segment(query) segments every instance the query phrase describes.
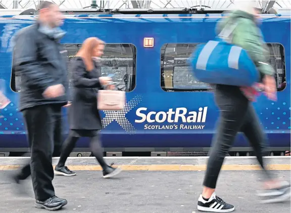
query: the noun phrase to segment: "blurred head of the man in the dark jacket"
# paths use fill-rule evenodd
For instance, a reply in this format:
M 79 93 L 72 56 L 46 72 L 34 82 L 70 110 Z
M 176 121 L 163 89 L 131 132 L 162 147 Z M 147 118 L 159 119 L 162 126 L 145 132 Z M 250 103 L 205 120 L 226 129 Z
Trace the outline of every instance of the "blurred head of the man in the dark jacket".
M 39 7 L 38 19 L 52 28 L 63 25 L 63 14 L 57 5 L 43 1 Z

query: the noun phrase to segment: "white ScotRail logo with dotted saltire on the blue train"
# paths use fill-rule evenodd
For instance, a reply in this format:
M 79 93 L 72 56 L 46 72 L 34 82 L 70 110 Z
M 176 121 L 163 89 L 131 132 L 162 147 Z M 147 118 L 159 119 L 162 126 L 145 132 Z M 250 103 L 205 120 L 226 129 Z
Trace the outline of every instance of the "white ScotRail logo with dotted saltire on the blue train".
M 128 134 L 136 133 L 135 127 L 126 118 L 126 114 L 136 107 L 142 101 L 140 95 L 135 96 L 126 103 L 120 111 L 104 111 L 105 117 L 102 120 L 103 129 L 113 121 L 116 121 Z M 203 130 L 205 125 L 196 125 L 196 123 L 205 123 L 208 107 L 200 107 L 198 111 L 189 111 L 187 108 L 179 107 L 169 109 L 168 111 L 149 111 L 146 107 L 140 107 L 136 110 L 137 116 L 135 123 L 144 124 L 144 130 Z M 153 124 L 149 124 L 153 123 Z M 154 124 L 155 123 L 155 124 Z M 161 123 L 161 124 L 156 124 Z M 163 125 L 162 123 L 169 123 Z M 194 124 L 195 123 L 195 124 Z M 193 125 L 194 124 L 194 125 Z

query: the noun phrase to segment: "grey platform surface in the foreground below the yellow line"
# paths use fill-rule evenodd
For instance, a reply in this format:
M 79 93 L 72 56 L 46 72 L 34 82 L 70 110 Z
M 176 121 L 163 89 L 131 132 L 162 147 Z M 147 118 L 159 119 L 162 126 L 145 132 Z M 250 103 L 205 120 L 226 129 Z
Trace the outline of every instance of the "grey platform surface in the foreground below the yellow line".
M 290 171 L 273 171 L 290 181 Z M 34 208 L 32 197 L 19 197 L 8 178 L 15 171 L 0 171 L 1 213 L 49 212 Z M 68 204 L 57 212 L 84 213 L 197 213 L 205 172 L 123 171 L 103 179 L 100 171 L 77 171 L 75 177 L 56 176 L 54 186 Z M 260 171 L 222 171 L 217 194 L 232 203 L 237 213 L 289 213 L 290 202 L 259 204 L 255 195 Z M 31 180 L 21 186 L 31 193 Z

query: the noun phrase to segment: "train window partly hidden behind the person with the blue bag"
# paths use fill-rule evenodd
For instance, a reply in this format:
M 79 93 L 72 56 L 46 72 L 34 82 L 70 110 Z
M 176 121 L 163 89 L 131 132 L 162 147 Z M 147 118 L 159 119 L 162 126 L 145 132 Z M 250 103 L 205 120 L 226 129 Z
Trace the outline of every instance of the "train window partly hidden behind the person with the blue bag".
M 187 59 L 198 44 L 165 44 L 161 49 L 161 87 L 166 92 L 207 91 L 211 86 L 195 79 Z M 280 44 L 267 44 L 269 63 L 274 67 L 277 90 L 286 87 L 285 54 Z

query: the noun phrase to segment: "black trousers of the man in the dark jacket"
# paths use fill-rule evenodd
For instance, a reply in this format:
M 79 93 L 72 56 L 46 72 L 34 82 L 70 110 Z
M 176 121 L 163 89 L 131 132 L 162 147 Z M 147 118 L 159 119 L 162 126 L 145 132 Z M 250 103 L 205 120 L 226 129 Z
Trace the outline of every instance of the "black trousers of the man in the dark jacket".
M 31 158 L 30 165 L 24 166 L 18 176 L 24 180 L 31 174 L 35 199 L 44 201 L 55 195 L 52 157 L 54 147 L 62 145 L 62 105 L 30 107 L 23 110 L 23 116 Z

